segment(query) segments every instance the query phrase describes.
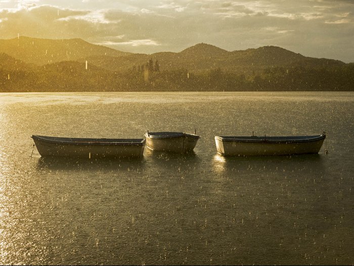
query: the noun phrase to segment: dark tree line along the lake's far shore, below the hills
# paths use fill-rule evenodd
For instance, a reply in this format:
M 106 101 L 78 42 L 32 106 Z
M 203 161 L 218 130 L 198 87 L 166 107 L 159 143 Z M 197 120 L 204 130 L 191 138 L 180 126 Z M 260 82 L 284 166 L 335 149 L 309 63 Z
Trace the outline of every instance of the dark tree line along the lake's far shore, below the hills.
M 129 71 L 63 67 L 40 70 L 0 68 L 0 92 L 59 91 L 353 91 L 354 64 L 335 68 L 269 67 L 259 72 L 222 68 L 191 72 L 164 70 L 159 62 L 132 66 Z

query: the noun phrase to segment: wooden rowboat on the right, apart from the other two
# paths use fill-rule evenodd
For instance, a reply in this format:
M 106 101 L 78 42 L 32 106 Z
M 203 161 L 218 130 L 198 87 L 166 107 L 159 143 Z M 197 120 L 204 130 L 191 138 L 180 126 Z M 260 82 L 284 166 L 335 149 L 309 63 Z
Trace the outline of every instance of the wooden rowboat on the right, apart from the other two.
M 216 150 L 224 156 L 315 154 L 326 132 L 314 136 L 215 136 Z

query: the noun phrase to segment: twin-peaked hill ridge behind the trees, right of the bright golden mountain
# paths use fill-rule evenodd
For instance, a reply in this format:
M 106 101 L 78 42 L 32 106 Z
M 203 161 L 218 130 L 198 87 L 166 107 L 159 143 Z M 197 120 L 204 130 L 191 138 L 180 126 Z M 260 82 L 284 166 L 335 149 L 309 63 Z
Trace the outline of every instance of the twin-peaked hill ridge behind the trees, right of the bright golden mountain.
M 106 69 L 124 71 L 131 69 L 134 65 L 145 64 L 150 58 L 154 61 L 158 60 L 165 70 L 188 69 L 194 72 L 203 72 L 213 68 L 234 72 L 259 72 L 273 66 L 319 68 L 345 65 L 339 60 L 305 57 L 276 46 L 229 52 L 207 44 L 197 44 L 179 53 L 160 52 L 151 55 L 130 54 L 119 57 L 91 56 L 78 59 L 78 61 L 88 60 Z

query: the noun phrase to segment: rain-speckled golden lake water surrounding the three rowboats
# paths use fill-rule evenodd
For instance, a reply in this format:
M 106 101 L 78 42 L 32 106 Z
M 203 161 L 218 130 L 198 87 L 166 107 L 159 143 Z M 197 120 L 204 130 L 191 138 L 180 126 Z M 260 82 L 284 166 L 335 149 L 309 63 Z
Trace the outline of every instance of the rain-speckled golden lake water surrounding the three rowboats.
M 353 92 L 0 93 L 0 264 L 353 264 L 353 110 Z M 195 129 L 193 154 L 134 160 L 41 158 L 30 138 Z M 217 155 L 214 136 L 252 131 L 328 136 Z

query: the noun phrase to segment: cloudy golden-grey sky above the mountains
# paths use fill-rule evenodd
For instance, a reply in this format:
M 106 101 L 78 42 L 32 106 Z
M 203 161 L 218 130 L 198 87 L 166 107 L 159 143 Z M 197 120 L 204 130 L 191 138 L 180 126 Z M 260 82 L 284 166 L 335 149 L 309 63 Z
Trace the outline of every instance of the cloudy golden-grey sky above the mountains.
M 274 45 L 354 62 L 354 0 L 0 0 L 0 39 L 81 38 L 134 53 Z

